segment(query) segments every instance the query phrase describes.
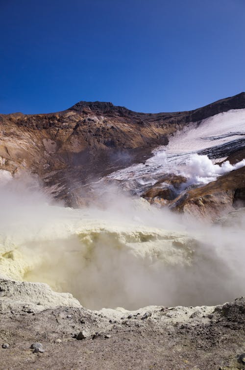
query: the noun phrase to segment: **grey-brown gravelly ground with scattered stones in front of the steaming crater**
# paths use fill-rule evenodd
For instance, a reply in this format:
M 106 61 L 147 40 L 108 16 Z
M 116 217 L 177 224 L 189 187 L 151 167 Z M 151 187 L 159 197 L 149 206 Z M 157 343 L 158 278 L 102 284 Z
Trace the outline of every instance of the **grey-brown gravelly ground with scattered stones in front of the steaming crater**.
M 0 318 L 1 369 L 245 369 L 243 297 L 90 311 L 46 284 L 2 278 Z

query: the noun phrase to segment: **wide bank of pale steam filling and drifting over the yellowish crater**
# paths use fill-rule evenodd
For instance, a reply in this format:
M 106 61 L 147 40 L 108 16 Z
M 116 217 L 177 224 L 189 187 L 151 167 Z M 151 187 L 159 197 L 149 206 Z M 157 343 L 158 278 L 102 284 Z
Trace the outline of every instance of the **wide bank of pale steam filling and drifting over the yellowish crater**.
M 0 187 L 0 275 L 46 282 L 86 308 L 215 305 L 245 294 L 245 220 L 222 226 L 118 188 L 99 204 L 53 203 L 36 181 Z M 227 225 L 228 224 L 228 225 Z

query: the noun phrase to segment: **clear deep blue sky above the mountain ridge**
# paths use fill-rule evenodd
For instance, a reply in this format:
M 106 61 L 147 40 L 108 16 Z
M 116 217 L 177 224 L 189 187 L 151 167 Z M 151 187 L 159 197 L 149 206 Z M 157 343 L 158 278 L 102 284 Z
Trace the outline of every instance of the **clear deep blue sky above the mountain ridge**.
M 0 113 L 189 110 L 245 91 L 245 0 L 0 0 Z

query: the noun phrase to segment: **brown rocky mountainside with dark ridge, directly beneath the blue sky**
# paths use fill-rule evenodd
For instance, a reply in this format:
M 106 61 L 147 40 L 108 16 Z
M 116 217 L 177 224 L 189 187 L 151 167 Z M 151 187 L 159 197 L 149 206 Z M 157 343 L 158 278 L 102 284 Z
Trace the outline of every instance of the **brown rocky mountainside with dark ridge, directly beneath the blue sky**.
M 82 185 L 146 160 L 186 123 L 245 107 L 245 93 L 174 113 L 137 113 L 81 101 L 57 113 L 0 115 L 0 169 L 37 174 L 53 197 L 75 206 Z

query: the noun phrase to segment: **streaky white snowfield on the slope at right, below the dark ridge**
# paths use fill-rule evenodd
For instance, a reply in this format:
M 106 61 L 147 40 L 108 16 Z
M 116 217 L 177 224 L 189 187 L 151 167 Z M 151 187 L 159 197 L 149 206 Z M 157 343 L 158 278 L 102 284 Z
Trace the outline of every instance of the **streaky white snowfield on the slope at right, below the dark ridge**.
M 199 123 L 189 123 L 183 130 L 170 137 L 168 146 L 153 151 L 153 156 L 145 163 L 134 164 L 123 170 L 116 171 L 107 176 L 109 179 L 121 181 L 134 180 L 139 185 L 149 182 L 152 185 L 156 178 L 166 173 L 183 174 L 194 181 L 193 183 L 208 183 L 217 176 L 234 170 L 226 163 L 221 171 L 212 167 L 212 161 L 206 155 L 195 157 L 194 154 L 202 149 L 213 148 L 225 143 L 232 143 L 245 137 L 245 109 L 229 110 L 216 116 L 202 120 Z M 212 150 L 212 149 L 211 149 Z M 223 158 L 225 159 L 225 158 Z M 200 171 L 209 168 L 210 171 L 200 176 L 193 175 L 192 163 L 199 162 Z M 219 160 L 215 160 L 218 162 Z M 237 164 L 236 168 L 243 167 L 244 162 Z M 195 167 L 195 166 L 194 166 Z M 189 175 L 188 175 L 189 173 Z M 190 174 L 191 173 L 191 174 Z

